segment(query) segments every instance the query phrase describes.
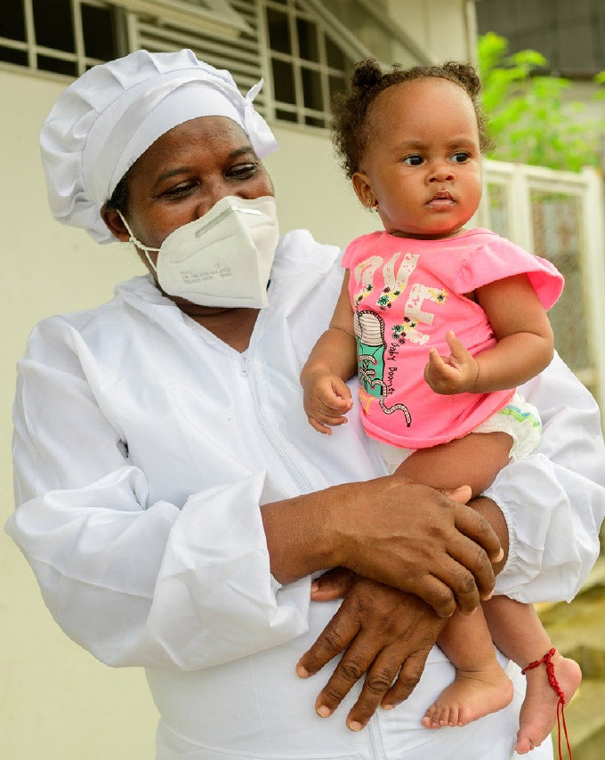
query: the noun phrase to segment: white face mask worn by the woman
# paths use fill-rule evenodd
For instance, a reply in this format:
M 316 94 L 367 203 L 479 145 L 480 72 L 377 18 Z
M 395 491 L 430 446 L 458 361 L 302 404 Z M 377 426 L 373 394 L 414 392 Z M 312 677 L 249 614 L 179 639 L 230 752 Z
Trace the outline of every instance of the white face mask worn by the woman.
M 168 295 L 200 306 L 269 305 L 267 284 L 279 238 L 272 196 L 221 198 L 204 216 L 171 232 L 159 248 L 144 246 L 120 217 Z M 149 251 L 158 252 L 157 266 Z

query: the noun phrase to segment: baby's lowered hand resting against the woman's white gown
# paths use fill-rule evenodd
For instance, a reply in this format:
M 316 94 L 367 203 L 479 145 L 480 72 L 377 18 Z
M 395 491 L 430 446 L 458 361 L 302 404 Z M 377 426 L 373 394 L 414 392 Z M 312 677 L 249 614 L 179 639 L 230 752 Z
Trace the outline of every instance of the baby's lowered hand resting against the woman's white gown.
M 349 386 L 340 377 L 313 373 L 303 379 L 303 406 L 311 427 L 331 435 L 327 425 L 344 424 L 344 416 L 353 406 Z

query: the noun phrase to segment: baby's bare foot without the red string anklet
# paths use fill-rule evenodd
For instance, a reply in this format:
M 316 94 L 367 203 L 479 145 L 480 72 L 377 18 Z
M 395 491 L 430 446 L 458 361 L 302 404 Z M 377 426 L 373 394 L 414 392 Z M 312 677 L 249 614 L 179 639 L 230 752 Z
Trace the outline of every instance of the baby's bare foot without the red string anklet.
M 456 678 L 441 691 L 424 714 L 424 728 L 466 725 L 496 713 L 512 700 L 512 683 L 496 660 L 481 670 L 456 670 Z

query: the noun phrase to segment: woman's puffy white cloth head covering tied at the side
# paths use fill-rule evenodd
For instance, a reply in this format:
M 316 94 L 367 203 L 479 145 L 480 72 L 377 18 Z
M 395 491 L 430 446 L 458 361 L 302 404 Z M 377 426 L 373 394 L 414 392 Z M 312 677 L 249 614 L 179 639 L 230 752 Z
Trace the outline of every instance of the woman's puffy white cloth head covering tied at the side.
M 100 243 L 115 240 L 101 206 L 149 145 L 191 118 L 230 117 L 259 158 L 270 155 L 278 144 L 253 106 L 261 86 L 244 97 L 229 71 L 190 50 L 138 50 L 93 67 L 60 94 L 40 133 L 52 215 Z

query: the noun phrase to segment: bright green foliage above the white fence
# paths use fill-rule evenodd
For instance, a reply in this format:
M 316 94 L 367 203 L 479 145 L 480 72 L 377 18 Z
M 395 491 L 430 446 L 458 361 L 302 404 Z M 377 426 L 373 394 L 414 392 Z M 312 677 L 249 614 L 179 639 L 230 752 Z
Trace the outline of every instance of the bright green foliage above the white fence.
M 605 117 L 585 116 L 585 104 L 566 101 L 569 79 L 540 73 L 548 61 L 535 50 L 508 54 L 504 37 L 488 32 L 478 45 L 482 102 L 496 148 L 488 158 L 578 171 L 599 166 Z M 594 81 L 605 85 L 605 71 Z M 605 86 L 594 99 L 605 98 Z

